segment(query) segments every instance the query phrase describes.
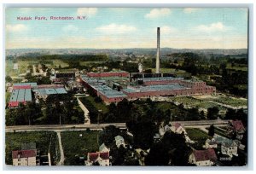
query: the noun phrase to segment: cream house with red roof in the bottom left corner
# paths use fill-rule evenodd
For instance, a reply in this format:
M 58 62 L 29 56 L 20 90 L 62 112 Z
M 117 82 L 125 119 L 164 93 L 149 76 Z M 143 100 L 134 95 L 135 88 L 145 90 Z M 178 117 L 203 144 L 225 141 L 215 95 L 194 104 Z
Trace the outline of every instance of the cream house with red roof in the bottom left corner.
M 15 150 L 12 152 L 13 165 L 15 166 L 35 166 L 37 162 L 37 149 Z

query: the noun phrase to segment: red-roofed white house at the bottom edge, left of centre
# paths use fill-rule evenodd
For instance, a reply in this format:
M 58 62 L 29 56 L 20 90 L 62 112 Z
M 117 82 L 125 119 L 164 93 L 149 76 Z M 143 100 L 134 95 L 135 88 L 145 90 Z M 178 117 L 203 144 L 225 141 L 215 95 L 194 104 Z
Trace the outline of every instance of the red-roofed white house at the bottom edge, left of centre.
M 88 153 L 85 165 L 109 166 L 109 152 Z

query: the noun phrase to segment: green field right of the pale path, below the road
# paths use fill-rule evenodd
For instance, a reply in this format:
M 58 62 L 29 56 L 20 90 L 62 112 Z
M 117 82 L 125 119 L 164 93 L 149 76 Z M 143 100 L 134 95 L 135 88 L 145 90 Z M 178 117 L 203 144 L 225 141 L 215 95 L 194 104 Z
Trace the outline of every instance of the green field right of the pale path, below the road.
M 99 131 L 62 131 L 61 142 L 65 155 L 65 165 L 84 165 L 87 153 L 96 152 L 99 148 L 97 144 L 98 133 Z M 84 157 L 84 159 L 77 161 L 76 157 Z

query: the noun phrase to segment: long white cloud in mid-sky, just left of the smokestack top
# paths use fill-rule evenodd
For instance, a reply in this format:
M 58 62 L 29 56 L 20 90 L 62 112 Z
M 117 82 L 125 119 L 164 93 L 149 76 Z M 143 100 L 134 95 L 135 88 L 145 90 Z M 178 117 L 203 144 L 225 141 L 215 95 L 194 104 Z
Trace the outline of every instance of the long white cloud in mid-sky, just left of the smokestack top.
M 96 28 L 99 32 L 105 32 L 108 34 L 123 34 L 126 32 L 134 32 L 137 30 L 135 26 L 127 26 L 127 25 L 118 25 L 118 24 L 109 24 L 107 26 L 100 26 Z

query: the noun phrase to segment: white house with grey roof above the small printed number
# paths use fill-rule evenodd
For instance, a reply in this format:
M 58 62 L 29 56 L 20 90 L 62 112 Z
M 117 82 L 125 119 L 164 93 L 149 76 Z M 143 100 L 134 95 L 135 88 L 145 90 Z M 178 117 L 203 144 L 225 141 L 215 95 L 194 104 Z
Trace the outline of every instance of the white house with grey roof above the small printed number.
M 237 154 L 237 144 L 235 141 L 226 139 L 224 142 L 221 143 L 221 153 L 222 154 L 227 154 L 230 157 L 233 155 L 238 156 Z

